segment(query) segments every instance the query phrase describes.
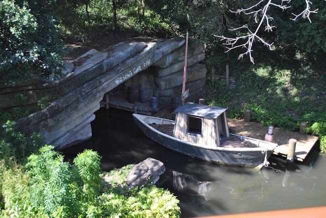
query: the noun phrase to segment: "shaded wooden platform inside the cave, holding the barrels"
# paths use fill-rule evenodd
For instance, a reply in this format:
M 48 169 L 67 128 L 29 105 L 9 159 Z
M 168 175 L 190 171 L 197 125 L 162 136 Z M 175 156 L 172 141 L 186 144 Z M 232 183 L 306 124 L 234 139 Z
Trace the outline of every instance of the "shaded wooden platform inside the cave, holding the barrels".
M 105 106 L 105 101 L 101 101 L 101 106 Z M 109 107 L 114 107 L 118 109 L 134 111 L 135 106 L 137 107 L 137 113 L 145 114 L 145 115 L 152 115 L 153 113 L 158 111 L 157 109 L 153 109 L 150 105 L 150 102 L 147 101 L 146 103 L 129 103 L 125 97 L 120 96 L 109 96 Z

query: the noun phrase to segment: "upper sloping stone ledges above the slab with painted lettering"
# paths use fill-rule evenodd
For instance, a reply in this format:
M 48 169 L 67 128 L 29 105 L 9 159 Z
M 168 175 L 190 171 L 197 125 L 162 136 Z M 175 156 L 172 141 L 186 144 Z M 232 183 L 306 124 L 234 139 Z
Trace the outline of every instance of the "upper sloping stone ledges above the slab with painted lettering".
M 106 49 L 106 52 L 91 49 L 73 60 L 76 64 L 75 70 L 61 79 L 53 82 L 40 82 L 37 85 L 0 89 L 0 108 L 19 106 L 21 103 L 17 99 L 17 94 L 24 94 L 27 97 L 27 104 L 35 104 L 45 96 L 48 100 L 57 99 L 92 78 L 106 72 L 109 68 L 118 65 L 123 60 L 142 50 L 144 46 L 146 46 L 144 42 L 121 42 L 109 47 Z M 103 57 L 106 56 L 107 58 L 103 60 Z M 71 70 L 71 64 L 67 64 L 68 69 L 65 69 L 64 72 Z

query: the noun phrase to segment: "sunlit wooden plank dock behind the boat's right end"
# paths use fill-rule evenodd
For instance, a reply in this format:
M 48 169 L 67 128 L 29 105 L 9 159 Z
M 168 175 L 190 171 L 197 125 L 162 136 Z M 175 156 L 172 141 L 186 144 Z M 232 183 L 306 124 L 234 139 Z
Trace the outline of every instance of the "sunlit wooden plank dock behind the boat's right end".
M 228 118 L 230 132 L 248 137 L 254 137 L 264 140 L 267 126 L 255 122 L 245 122 L 243 119 Z M 295 147 L 295 159 L 304 161 L 313 145 L 318 140 L 317 136 L 300 134 L 299 132 L 282 130 L 274 128 L 274 139 L 278 147 L 274 149 L 274 155 L 286 157 L 288 150 L 288 141 L 290 138 L 297 140 Z

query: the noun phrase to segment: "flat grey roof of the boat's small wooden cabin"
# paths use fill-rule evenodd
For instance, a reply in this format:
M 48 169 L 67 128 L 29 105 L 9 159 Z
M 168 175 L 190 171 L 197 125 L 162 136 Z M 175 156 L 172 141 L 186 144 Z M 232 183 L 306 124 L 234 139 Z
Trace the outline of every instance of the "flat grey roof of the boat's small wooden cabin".
M 186 103 L 182 106 L 179 106 L 175 112 L 216 119 L 227 109 L 228 108 L 225 107 L 209 106 L 198 103 Z

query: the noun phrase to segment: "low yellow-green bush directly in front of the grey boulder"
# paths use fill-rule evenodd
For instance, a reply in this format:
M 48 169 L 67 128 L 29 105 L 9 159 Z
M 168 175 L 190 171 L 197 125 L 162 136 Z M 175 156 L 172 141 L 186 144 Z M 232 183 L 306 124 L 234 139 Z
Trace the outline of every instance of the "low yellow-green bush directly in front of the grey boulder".
M 101 196 L 104 216 L 120 217 L 179 217 L 179 200 L 168 190 L 154 185 L 128 188 L 126 175 L 132 165 L 113 169 L 107 173 L 110 185 L 108 193 Z

